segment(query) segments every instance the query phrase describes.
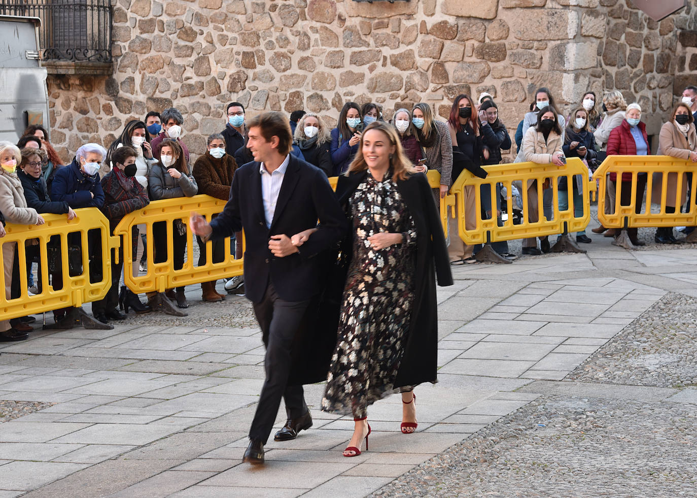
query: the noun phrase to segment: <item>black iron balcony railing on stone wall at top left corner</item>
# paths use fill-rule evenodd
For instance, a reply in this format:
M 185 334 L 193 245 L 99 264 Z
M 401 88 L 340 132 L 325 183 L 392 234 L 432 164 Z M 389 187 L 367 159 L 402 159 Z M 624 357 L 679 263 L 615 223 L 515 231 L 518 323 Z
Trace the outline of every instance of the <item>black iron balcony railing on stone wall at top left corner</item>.
M 44 61 L 112 61 L 110 0 L 0 0 L 0 14 L 41 19 Z

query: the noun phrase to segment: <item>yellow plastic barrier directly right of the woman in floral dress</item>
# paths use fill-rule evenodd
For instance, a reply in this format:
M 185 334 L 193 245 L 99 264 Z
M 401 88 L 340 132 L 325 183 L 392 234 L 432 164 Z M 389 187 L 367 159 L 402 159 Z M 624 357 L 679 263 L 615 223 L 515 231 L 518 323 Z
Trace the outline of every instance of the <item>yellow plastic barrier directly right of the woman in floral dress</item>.
M 578 232 L 588 225 L 590 221 L 590 191 L 595 189 L 595 181 L 588 181 L 588 167 L 586 167 L 579 158 L 567 159 L 567 164 L 556 166 L 553 164 L 539 165 L 537 163 L 512 163 L 503 165 L 484 166 L 488 176 L 486 179 L 481 179 L 474 176 L 468 170 L 464 170 L 457 178 L 450 194 L 457 197 L 457 218 L 460 232 L 460 238 L 468 244 L 480 244 L 498 241 L 510 241 L 514 239 L 527 239 L 529 237 L 539 237 L 553 234 L 562 234 L 565 229 L 567 232 Z M 565 211 L 559 210 L 559 188 L 558 180 L 562 176 L 567 176 L 568 185 L 576 181 L 575 175 L 581 175 L 583 181 L 583 216 L 576 218 L 574 216 L 574 199 L 569 195 L 569 208 Z M 543 210 L 542 184 L 546 179 L 549 179 L 549 188 L 553 192 L 553 219 L 546 220 Z M 539 220 L 537 222 L 528 221 L 528 189 L 529 181 L 537 181 L 537 211 Z M 523 220 L 519 225 L 514 224 L 513 208 L 514 199 L 512 198 L 512 183 L 521 181 L 523 186 L 520 192 L 523 202 Z M 502 226 L 498 226 L 496 216 L 491 218 L 482 218 L 482 198 L 480 186 L 489 185 L 491 199 L 490 206 L 496 206 L 496 183 L 501 183 L 506 188 L 507 201 L 507 219 L 503 221 Z M 465 223 L 465 188 L 473 186 L 470 189 L 471 195 L 475 195 L 475 228 L 466 229 Z M 454 216 L 453 216 L 454 218 Z M 489 237 L 487 237 L 489 236 Z

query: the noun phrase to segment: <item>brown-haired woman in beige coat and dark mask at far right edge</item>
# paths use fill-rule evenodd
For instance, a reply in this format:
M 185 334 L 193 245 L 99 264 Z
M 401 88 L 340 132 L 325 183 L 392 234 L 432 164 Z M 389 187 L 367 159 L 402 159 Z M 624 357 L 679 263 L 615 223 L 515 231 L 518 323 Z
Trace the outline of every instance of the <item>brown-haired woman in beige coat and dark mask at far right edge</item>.
M 679 103 L 673 109 L 673 119 L 661 126 L 658 139 L 659 155 L 697 163 L 697 133 L 695 133 L 694 117 L 689 106 Z M 654 173 L 651 187 L 651 202 L 661 204 L 663 174 Z M 687 193 L 687 175 L 682 175 L 680 200 L 677 197 L 677 173 L 668 173 L 666 178 L 666 213 L 675 213 L 675 203 L 679 206 L 685 203 Z M 679 243 L 673 236 L 672 227 L 656 229 L 654 241 L 660 244 Z

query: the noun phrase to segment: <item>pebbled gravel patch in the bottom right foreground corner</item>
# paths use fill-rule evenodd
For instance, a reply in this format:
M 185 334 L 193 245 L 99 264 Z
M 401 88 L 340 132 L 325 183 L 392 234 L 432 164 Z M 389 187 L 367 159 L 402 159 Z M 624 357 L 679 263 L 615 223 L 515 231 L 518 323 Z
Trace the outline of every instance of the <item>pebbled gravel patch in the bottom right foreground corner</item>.
M 374 497 L 694 497 L 697 407 L 551 397 Z

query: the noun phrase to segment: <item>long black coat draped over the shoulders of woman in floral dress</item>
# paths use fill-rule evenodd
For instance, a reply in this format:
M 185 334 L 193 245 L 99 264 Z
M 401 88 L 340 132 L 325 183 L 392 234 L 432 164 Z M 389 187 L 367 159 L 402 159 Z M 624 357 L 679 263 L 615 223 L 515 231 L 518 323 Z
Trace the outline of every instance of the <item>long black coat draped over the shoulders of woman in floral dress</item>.
M 339 203 L 346 202 L 355 189 L 365 180 L 367 171 L 339 176 L 337 196 Z M 450 259 L 445 246 L 443 225 L 438 217 L 431 187 L 422 173 L 413 174 L 406 180 L 397 181 L 399 194 L 406 203 L 414 220 L 417 232 L 416 264 L 414 279 L 414 302 L 411 309 L 408 338 L 404 347 L 395 387 L 415 386 L 422 382 L 436 382 L 438 368 L 438 303 L 436 301 L 436 276 L 438 285 L 452 285 Z M 346 270 L 353 250 L 353 232 L 342 242 L 342 254 L 347 255 L 342 263 L 343 272 L 335 273 L 333 285 L 336 292 L 346 282 Z M 342 275 L 343 273 L 343 275 Z M 336 280 L 336 279 L 342 280 Z M 335 296 L 334 301 L 341 303 Z M 338 326 L 338 313 L 337 313 Z

